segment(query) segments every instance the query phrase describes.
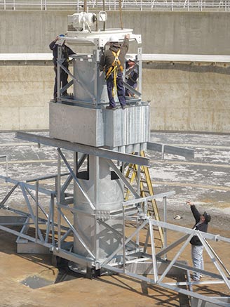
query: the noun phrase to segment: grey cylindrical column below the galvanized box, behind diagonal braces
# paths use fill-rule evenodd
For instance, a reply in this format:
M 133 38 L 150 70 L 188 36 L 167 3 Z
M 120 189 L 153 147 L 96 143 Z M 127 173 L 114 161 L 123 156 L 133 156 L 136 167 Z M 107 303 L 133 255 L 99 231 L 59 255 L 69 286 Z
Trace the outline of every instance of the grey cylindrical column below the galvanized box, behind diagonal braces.
M 111 171 L 107 160 L 100 157 L 88 157 L 88 171 L 79 172 L 77 175 L 82 188 L 87 193 L 96 210 L 113 211 L 122 208 L 123 183 Z M 74 227 L 93 253 L 97 261 L 106 259 L 121 244 L 122 220 L 109 219 L 105 221 L 111 228 L 102 225 L 90 207 L 90 203 L 74 183 L 74 207 L 82 211 L 74 214 Z M 75 237 L 74 252 L 81 256 L 89 256 L 85 247 Z

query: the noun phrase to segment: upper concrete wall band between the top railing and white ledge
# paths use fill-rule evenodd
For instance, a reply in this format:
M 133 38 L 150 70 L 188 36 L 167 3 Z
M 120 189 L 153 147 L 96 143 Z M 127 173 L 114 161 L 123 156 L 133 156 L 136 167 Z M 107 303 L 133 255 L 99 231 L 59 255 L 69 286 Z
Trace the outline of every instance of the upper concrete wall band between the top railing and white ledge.
M 0 11 L 0 53 L 47 53 L 67 31 L 74 11 Z M 108 11 L 107 27 L 120 27 L 119 12 Z M 123 27 L 142 34 L 143 53 L 228 55 L 229 12 L 124 11 Z M 81 48 L 79 48 L 81 50 Z

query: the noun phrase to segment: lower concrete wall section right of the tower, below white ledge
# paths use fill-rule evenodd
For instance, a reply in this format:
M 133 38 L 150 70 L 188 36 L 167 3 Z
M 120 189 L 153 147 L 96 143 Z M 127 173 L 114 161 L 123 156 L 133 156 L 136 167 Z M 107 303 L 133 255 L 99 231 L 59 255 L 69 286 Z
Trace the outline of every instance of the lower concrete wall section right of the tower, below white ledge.
M 230 67 L 144 65 L 152 130 L 230 133 Z

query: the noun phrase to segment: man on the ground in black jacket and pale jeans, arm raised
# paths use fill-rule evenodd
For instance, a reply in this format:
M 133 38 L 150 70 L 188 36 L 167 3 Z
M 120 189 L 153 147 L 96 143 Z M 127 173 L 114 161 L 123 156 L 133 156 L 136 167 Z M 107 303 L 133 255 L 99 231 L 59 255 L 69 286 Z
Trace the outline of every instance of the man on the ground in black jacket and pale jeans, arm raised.
M 191 204 L 191 202 L 187 202 L 191 208 L 191 212 L 194 215 L 194 218 L 196 220 L 196 224 L 194 225 L 195 230 L 203 231 L 203 233 L 207 233 L 208 231 L 208 223 L 211 221 L 211 216 L 205 211 L 203 214 L 200 214 L 200 212 L 196 209 L 196 206 L 194 204 Z M 194 264 L 194 268 L 198 268 L 200 270 L 203 270 L 203 245 L 201 243 L 201 240 L 194 235 L 194 237 L 190 240 L 191 243 L 191 259 Z M 192 279 L 195 281 L 200 280 L 201 273 L 194 272 Z

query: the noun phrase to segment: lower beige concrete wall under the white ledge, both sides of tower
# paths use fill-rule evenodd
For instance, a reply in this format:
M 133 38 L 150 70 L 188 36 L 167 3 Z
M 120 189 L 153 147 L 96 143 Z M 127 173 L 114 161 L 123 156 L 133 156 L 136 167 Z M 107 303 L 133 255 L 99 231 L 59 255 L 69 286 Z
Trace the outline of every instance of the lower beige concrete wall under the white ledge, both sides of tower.
M 144 64 L 150 129 L 230 132 L 230 67 Z M 48 129 L 53 65 L 0 65 L 0 131 Z

